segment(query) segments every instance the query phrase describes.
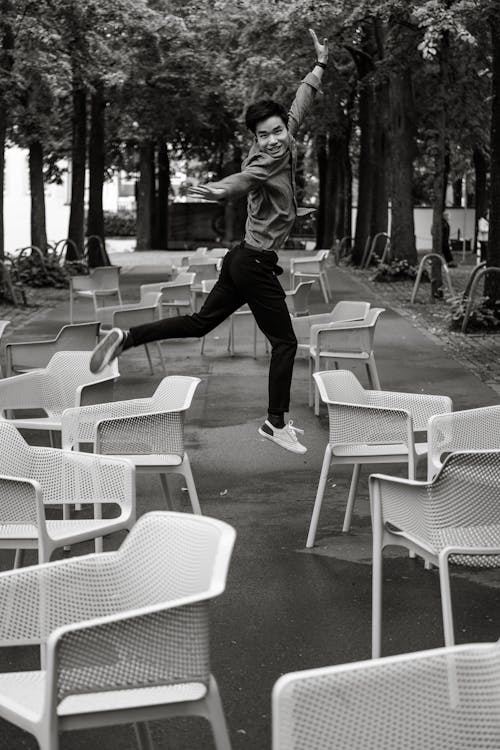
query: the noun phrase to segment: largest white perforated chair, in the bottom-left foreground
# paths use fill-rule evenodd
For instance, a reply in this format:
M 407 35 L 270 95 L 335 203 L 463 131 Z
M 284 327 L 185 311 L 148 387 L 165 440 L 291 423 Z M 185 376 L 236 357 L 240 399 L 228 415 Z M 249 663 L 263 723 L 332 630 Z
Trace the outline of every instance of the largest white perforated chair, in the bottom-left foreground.
M 45 647 L 42 669 L 0 674 L 0 716 L 58 750 L 62 732 L 203 716 L 231 750 L 210 674 L 210 600 L 235 532 L 212 518 L 147 513 L 116 552 L 0 574 L 0 644 Z M 116 747 L 108 730 L 109 747 Z

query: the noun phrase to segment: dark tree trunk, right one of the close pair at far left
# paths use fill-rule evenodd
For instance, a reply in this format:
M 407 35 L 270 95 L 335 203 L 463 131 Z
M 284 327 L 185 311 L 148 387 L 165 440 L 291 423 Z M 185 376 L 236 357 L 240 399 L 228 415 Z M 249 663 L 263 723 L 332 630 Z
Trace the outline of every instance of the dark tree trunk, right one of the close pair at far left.
M 88 263 L 91 268 L 111 265 L 106 254 L 102 191 L 105 168 L 104 87 L 98 82 L 90 99 L 89 212 L 87 217 Z M 102 246 L 98 237 L 101 238 Z M 104 252 L 103 252 L 104 248 Z

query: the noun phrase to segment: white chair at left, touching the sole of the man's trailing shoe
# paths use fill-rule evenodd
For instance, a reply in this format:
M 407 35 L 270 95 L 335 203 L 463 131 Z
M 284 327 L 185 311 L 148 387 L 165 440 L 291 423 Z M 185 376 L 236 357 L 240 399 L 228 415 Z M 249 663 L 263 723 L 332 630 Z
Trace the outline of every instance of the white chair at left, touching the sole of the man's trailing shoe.
M 46 367 L 54 354 L 61 351 L 91 351 L 99 341 L 99 323 L 65 325 L 54 339 L 13 341 L 5 345 L 6 375 L 16 375 Z

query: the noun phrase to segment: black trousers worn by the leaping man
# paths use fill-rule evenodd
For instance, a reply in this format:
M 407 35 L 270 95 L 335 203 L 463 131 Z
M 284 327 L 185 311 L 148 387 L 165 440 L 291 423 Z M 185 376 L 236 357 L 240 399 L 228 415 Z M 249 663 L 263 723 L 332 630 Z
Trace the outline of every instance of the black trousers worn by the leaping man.
M 297 339 L 285 292 L 277 278 L 281 273 L 277 260 L 274 251 L 252 250 L 242 242 L 225 256 L 219 279 L 199 312 L 131 328 L 131 345 L 205 336 L 248 303 L 257 325 L 272 346 L 269 412 L 288 411 Z

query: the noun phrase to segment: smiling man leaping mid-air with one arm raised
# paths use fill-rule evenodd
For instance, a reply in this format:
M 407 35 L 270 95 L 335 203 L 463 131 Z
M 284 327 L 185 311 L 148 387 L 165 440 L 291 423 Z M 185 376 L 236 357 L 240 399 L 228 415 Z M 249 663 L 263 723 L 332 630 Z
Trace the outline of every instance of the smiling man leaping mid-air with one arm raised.
M 299 85 L 290 110 L 287 112 L 272 99 L 250 104 L 245 124 L 253 133 L 254 142 L 241 172 L 189 191 L 193 196 L 212 200 L 248 196 L 245 237 L 225 256 L 219 279 L 201 310 L 135 326 L 130 331 L 113 328 L 95 348 L 90 363 L 91 370 L 99 372 L 132 346 L 160 339 L 205 336 L 248 303 L 272 346 L 268 416 L 259 433 L 293 453 L 305 453 L 307 448 L 297 438 L 301 430 L 292 421 L 286 424 L 284 418 L 289 410 L 297 339 L 285 292 L 277 278 L 282 269 L 277 264 L 276 250 L 284 247 L 296 217 L 304 213 L 297 207 L 295 192 L 295 135 L 320 88 L 328 60 L 327 40 L 320 43 L 312 29 L 309 33 L 316 63 Z

